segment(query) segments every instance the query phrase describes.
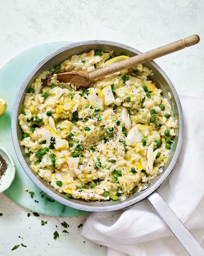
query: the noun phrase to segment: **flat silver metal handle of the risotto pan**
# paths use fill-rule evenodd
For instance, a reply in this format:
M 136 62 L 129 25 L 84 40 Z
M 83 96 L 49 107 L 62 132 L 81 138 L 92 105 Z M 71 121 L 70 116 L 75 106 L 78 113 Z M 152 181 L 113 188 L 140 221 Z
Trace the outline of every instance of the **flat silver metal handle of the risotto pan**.
M 163 221 L 171 229 L 173 234 L 177 237 L 182 246 L 186 249 L 190 256 L 203 256 L 204 250 L 192 236 L 192 234 L 186 229 L 184 224 L 171 210 L 167 203 L 160 197 L 155 191 L 147 197 L 148 201 L 162 217 Z

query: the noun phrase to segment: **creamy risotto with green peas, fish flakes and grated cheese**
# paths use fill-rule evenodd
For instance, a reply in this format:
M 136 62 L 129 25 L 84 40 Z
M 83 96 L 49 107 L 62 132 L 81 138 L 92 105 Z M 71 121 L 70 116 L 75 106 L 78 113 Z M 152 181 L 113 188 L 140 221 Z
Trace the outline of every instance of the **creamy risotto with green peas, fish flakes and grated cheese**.
M 25 95 L 19 124 L 30 167 L 66 198 L 116 201 L 154 179 L 177 120 L 142 64 L 76 90 L 57 73 L 88 73 L 129 58 L 94 50 L 44 71 Z M 44 79 L 53 75 L 48 86 Z

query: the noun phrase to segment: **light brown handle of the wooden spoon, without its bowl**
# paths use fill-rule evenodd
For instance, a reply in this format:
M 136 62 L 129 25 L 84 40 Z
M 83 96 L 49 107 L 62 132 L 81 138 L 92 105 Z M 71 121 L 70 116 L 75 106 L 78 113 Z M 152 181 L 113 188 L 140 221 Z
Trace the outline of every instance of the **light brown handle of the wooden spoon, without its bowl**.
M 184 39 L 180 39 L 173 43 L 169 43 L 167 45 L 163 45 L 151 51 L 147 51 L 145 53 L 141 53 L 129 59 L 125 59 L 124 61 L 117 62 L 108 67 L 104 67 L 102 69 L 98 69 L 94 72 L 88 74 L 89 80 L 94 80 L 100 77 L 104 77 L 106 75 L 113 74 L 115 72 L 129 69 L 135 65 L 145 63 L 147 61 L 151 61 L 152 59 L 157 59 L 169 53 L 173 53 L 175 51 L 179 51 L 184 49 L 185 47 L 189 47 L 197 44 L 200 41 L 198 35 L 190 35 L 189 37 L 185 37 Z

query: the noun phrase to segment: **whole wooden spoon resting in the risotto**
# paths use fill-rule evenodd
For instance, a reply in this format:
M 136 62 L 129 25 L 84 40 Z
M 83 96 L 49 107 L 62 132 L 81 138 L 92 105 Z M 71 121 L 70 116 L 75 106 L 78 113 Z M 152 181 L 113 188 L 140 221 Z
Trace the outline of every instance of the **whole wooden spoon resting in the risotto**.
M 66 73 L 59 73 L 57 74 L 57 80 L 64 83 L 71 82 L 74 86 L 76 86 L 77 90 L 87 88 L 90 85 L 91 80 L 104 77 L 106 75 L 110 75 L 124 69 L 129 69 L 130 67 L 145 63 L 147 61 L 151 61 L 152 59 L 157 59 L 169 53 L 184 49 L 185 47 L 195 45 L 199 41 L 200 38 L 198 35 L 190 35 L 189 37 L 185 37 L 184 39 L 180 39 L 173 43 L 169 43 L 167 45 L 158 47 L 145 53 L 138 54 L 134 57 L 117 62 L 108 67 L 98 69 L 91 73 L 87 73 L 85 71 L 71 71 Z M 51 77 L 53 77 L 53 75 L 44 80 L 43 86 L 47 85 L 47 82 L 50 80 Z

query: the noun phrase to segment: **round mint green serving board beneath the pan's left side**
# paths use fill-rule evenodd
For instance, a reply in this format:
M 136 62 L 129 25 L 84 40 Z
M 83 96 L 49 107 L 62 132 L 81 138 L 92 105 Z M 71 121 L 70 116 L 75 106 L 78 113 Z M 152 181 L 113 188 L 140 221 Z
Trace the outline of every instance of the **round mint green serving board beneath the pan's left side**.
M 48 195 L 41 193 L 41 190 L 28 178 L 14 151 L 11 138 L 11 114 L 18 90 L 31 69 L 45 56 L 70 43 L 73 42 L 52 42 L 32 47 L 18 54 L 0 69 L 0 98 L 4 98 L 7 103 L 6 112 L 0 116 L 0 146 L 10 153 L 16 166 L 15 179 L 4 193 L 28 210 L 56 217 L 72 217 L 89 212 L 73 209 L 57 201 L 48 201 Z M 33 198 L 29 191 L 34 192 Z

